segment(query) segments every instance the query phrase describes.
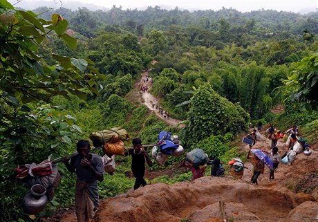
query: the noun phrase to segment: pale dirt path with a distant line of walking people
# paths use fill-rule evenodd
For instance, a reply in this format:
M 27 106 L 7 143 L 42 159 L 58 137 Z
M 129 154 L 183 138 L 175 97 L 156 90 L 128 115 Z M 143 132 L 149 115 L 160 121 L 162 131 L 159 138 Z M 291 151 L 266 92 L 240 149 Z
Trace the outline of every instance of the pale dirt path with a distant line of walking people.
M 140 93 L 142 93 L 142 91 L 140 91 L 140 86 L 147 86 L 148 88 L 146 92 L 142 93 L 142 100 L 140 102 L 144 104 L 146 107 L 148 107 L 150 111 L 153 111 L 153 113 L 155 113 L 156 116 L 158 116 L 158 118 L 162 119 L 162 121 L 166 122 L 170 126 L 178 127 L 179 129 L 185 127 L 185 125 L 182 123 L 182 120 L 177 120 L 171 117 L 164 118 L 161 115 L 159 109 L 156 109 L 156 107 L 153 108 L 153 104 L 159 104 L 160 100 L 151 95 L 151 93 L 149 93 L 149 90 L 152 87 L 153 80 L 151 77 L 149 77 L 148 82 L 144 82 L 147 76 L 149 76 L 149 71 L 142 72 L 140 83 L 135 84 L 135 91 L 139 91 Z

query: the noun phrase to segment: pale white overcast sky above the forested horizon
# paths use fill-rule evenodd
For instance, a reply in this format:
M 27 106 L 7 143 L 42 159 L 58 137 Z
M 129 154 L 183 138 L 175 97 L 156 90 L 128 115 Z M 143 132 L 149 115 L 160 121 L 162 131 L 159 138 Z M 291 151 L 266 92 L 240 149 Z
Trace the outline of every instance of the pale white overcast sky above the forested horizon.
M 8 0 L 11 3 L 17 0 Z M 22 0 L 36 1 L 36 0 Z M 160 6 L 160 8 L 173 9 L 178 6 L 180 10 L 220 10 L 224 8 L 233 8 L 240 12 L 250 12 L 251 10 L 272 9 L 288 12 L 314 12 L 318 8 L 318 0 L 42 0 L 57 2 L 62 1 L 68 4 L 71 1 L 81 1 L 82 3 L 91 3 L 104 8 L 122 6 L 122 9 L 145 9 L 147 6 Z

